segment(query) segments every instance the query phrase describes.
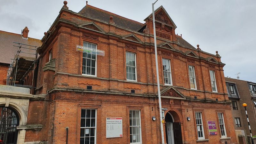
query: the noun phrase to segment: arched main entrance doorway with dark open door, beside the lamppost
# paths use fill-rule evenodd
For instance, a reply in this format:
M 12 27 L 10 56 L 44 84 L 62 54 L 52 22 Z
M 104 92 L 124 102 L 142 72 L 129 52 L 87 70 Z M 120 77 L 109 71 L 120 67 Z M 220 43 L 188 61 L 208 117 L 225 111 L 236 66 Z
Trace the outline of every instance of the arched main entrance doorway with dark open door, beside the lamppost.
M 167 144 L 182 144 L 180 122 L 176 122 L 170 112 L 166 113 L 165 122 L 165 136 Z

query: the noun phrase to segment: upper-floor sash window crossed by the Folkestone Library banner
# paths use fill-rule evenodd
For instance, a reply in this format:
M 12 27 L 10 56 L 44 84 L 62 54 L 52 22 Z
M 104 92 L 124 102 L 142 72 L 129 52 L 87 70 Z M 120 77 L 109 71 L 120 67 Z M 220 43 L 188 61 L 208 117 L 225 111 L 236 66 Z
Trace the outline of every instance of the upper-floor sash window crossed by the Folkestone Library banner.
M 84 42 L 84 46 L 92 49 L 97 49 L 96 44 Z M 97 73 L 97 55 L 90 51 L 83 52 L 82 74 L 96 76 Z

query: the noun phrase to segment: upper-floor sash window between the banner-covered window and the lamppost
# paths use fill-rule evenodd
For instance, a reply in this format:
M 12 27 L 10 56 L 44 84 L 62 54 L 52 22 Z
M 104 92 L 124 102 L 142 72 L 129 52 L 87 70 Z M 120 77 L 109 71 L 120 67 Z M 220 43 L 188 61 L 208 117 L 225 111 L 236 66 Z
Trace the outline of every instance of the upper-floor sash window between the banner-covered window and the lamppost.
M 127 80 L 136 81 L 136 54 L 126 52 L 126 78 Z

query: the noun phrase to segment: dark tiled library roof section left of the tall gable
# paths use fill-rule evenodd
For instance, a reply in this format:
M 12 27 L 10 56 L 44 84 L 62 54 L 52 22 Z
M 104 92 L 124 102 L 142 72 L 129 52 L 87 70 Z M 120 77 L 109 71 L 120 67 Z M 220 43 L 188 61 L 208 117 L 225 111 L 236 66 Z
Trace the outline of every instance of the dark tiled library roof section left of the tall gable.
M 113 21 L 115 22 L 115 24 L 117 26 L 131 29 L 134 31 L 138 31 L 138 30 L 140 30 L 140 28 L 143 27 L 143 23 L 124 18 L 117 14 L 114 14 L 114 13 L 96 8 L 94 6 L 91 6 L 89 4 L 85 5 L 84 8 L 78 13 L 82 14 L 86 17 L 90 17 L 90 18 L 97 19 L 97 20 L 102 20 L 105 22 L 109 22 L 109 17 L 113 16 Z

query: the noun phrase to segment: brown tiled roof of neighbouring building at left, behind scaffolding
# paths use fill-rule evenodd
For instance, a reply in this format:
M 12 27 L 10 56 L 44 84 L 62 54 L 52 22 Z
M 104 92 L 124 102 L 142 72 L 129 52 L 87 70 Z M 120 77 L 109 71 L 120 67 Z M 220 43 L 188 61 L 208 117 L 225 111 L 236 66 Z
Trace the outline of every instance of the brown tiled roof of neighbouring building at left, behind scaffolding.
M 15 57 L 18 47 L 13 45 L 18 45 L 18 44 L 14 44 L 13 42 L 20 42 L 20 34 L 15 34 L 15 33 L 10 33 L 10 32 L 0 30 L 0 63 L 10 64 L 11 59 Z M 42 45 L 41 40 L 31 38 L 31 37 L 28 37 L 28 39 L 21 38 L 21 43 L 34 45 L 37 47 Z M 29 47 L 29 46 L 24 45 L 23 47 Z M 29 48 L 33 48 L 33 47 L 29 47 Z M 21 51 L 30 52 L 30 53 L 35 52 L 35 50 L 29 50 L 24 48 L 21 48 Z M 20 53 L 20 57 L 35 58 L 35 55 Z

